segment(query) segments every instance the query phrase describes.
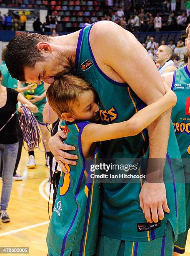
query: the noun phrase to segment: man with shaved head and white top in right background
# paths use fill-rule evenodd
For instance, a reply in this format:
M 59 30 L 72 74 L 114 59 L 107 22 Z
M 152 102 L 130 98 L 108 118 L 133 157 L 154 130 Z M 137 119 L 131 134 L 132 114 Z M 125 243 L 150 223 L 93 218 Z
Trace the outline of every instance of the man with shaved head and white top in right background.
M 177 69 L 174 65 L 173 60 L 171 60 L 173 56 L 173 50 L 169 46 L 160 45 L 156 56 L 156 62 L 157 64 L 160 64 L 160 67 L 158 68 L 160 74 L 166 72 L 173 72 L 175 69 Z

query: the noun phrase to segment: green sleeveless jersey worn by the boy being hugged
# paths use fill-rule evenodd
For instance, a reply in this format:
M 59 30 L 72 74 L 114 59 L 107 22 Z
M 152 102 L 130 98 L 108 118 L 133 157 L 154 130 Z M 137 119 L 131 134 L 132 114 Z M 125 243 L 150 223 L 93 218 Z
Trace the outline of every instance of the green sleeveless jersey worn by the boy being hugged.
M 81 134 L 88 122 L 63 123 L 60 128 L 67 134 L 65 143 L 75 146 L 77 165 L 66 165 L 62 173 L 57 197 L 47 233 L 49 255 L 91 256 L 96 252 L 98 217 L 100 209 L 99 184 L 89 179 L 82 154 Z M 73 152 L 70 152 L 71 154 Z M 97 156 L 95 150 L 94 160 Z

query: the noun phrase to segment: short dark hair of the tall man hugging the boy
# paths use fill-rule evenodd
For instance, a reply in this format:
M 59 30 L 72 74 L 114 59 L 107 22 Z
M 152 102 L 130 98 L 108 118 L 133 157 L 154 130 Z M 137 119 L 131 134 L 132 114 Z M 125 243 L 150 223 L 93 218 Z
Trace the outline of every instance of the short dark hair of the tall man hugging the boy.
M 19 81 L 25 81 L 24 68 L 34 67 L 37 61 L 45 57 L 37 51 L 37 44 L 42 41 L 51 42 L 50 36 L 36 33 L 21 33 L 5 46 L 4 58 L 9 73 Z

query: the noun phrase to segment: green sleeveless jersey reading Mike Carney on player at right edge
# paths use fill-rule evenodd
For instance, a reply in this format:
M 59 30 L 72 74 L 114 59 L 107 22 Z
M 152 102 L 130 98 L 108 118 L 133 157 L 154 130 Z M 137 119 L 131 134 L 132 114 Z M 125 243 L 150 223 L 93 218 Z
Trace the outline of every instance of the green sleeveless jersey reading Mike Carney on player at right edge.
M 190 72 L 188 66 L 174 71 L 171 89 L 178 98 L 171 116 L 175 136 L 178 140 L 181 157 L 190 158 Z M 190 172 L 190 167 L 188 172 Z

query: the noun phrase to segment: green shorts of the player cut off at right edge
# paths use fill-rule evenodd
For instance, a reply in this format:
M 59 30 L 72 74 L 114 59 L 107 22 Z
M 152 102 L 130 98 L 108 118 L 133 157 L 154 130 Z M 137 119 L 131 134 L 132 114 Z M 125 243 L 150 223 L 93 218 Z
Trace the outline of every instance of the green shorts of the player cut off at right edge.
M 185 245 L 190 229 L 190 174 L 185 173 L 185 206 L 186 206 L 186 231 L 178 236 L 174 244 L 174 250 L 177 253 L 185 253 Z

